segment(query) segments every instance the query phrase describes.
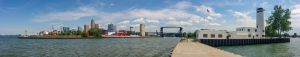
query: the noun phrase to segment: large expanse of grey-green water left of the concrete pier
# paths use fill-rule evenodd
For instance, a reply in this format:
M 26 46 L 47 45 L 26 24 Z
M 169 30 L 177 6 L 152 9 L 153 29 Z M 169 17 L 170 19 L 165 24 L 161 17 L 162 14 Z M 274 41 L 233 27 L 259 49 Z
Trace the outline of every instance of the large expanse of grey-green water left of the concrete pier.
M 18 39 L 0 37 L 0 57 L 168 57 L 179 38 Z

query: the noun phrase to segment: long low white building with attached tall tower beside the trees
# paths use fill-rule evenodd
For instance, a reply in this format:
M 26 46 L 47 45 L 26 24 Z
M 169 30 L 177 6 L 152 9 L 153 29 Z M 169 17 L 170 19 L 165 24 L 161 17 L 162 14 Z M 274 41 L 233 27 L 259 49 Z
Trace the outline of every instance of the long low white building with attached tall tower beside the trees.
M 265 28 L 264 28 L 263 11 L 264 11 L 263 8 L 257 8 L 256 27 L 239 27 L 236 28 L 236 31 L 201 29 L 197 32 L 197 38 L 198 39 L 261 39 L 264 38 Z

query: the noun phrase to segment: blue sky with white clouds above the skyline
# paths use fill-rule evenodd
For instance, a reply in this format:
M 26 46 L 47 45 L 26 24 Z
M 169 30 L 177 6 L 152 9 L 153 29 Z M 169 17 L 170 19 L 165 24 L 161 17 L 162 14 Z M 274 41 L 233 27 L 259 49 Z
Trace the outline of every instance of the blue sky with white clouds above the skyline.
M 91 19 L 107 29 L 130 26 L 147 32 L 163 26 L 180 26 L 185 32 L 196 29 L 234 31 L 255 27 L 256 8 L 265 9 L 265 20 L 275 5 L 291 10 L 293 30 L 300 32 L 300 0 L 0 0 L 0 34 L 30 34 L 60 27 L 77 28 Z M 166 29 L 168 30 L 168 29 Z M 176 29 L 175 29 L 176 30 Z

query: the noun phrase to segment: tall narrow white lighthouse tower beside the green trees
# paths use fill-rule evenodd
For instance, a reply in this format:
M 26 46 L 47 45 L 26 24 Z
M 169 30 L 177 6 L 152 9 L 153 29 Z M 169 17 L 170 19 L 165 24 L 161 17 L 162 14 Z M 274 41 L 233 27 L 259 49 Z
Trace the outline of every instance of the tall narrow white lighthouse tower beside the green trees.
M 256 33 L 258 38 L 265 37 L 265 25 L 264 25 L 264 9 L 257 8 L 256 10 Z

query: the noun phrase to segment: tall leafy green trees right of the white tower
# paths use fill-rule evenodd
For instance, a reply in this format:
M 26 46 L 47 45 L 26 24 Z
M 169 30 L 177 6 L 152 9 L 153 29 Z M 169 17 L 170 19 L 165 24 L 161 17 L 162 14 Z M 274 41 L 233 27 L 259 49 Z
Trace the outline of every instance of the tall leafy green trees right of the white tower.
M 267 20 L 266 35 L 269 37 L 277 35 L 281 38 L 282 32 L 291 30 L 291 22 L 288 20 L 291 18 L 290 14 L 289 9 L 285 10 L 281 6 L 275 5 L 272 15 Z

